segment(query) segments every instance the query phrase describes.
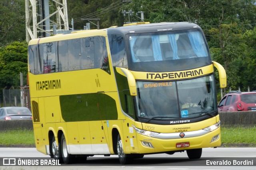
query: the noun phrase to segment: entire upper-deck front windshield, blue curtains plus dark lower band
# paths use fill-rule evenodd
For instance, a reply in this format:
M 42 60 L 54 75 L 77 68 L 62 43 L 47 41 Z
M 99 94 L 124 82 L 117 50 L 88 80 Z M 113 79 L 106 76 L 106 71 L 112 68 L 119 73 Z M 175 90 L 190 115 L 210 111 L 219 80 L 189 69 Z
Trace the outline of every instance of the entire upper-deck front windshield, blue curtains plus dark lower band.
M 132 33 L 126 38 L 130 70 L 171 72 L 212 64 L 201 29 Z

